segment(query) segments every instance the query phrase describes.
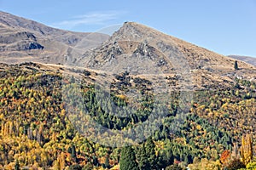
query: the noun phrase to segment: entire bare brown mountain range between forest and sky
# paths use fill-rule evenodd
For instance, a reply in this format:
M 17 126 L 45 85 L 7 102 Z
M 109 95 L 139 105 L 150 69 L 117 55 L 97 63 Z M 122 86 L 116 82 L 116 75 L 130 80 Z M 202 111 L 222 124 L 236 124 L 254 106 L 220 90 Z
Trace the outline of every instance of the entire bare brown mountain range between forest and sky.
M 3 24 L 3 21 L 9 24 Z M 18 31 L 14 31 L 13 27 Z M 1 36 L 5 36 L 2 38 L 5 45 L 1 43 L 0 46 L 3 62 L 6 59 L 15 63 L 14 59 L 18 58 L 18 62 L 82 66 L 112 73 L 128 71 L 133 75 L 181 75 L 181 79 L 190 80 L 196 88 L 233 86 L 236 77 L 256 79 L 253 65 L 239 60 L 240 69 L 235 71 L 236 59 L 136 22 L 125 22 L 111 37 L 104 38 L 98 33 L 61 31 L 2 12 L 0 29 L 3 32 Z M 58 39 L 58 35 L 62 36 Z M 63 38 L 70 35 L 72 38 L 84 37 L 80 36 L 77 42 L 68 44 Z M 10 37 L 14 37 L 13 40 Z M 6 54 L 8 57 L 4 56 Z

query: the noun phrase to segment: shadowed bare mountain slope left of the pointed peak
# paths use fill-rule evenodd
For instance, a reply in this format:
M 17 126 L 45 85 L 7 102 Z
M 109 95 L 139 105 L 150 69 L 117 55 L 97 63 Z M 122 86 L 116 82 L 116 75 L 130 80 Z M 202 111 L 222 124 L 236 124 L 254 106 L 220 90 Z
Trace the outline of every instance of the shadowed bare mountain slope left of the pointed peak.
M 108 39 L 92 32 L 63 31 L 0 11 L 0 59 L 7 63 L 64 63 Z

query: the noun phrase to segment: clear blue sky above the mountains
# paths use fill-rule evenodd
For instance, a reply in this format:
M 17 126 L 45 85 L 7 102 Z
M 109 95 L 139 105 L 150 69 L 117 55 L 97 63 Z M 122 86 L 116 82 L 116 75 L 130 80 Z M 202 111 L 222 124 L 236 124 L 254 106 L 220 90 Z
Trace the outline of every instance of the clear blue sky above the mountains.
M 255 0 L 0 0 L 0 10 L 71 31 L 136 21 L 219 54 L 256 57 Z

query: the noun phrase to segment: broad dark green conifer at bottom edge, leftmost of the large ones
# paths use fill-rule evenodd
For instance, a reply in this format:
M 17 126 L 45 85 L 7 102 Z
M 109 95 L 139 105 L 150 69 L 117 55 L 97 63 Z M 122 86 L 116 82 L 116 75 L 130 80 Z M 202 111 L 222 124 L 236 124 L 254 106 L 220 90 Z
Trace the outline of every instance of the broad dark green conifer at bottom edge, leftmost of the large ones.
M 131 146 L 126 146 L 121 151 L 120 170 L 138 170 L 134 150 Z

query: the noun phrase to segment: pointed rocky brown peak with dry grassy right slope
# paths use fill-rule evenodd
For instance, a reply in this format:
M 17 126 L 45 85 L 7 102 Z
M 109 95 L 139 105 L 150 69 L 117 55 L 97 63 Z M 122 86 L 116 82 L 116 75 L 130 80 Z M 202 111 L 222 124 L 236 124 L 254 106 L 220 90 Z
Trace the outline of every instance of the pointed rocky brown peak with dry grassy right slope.
M 148 78 L 164 74 L 173 79 L 179 75 L 194 88 L 229 87 L 236 77 L 255 80 L 253 65 L 238 61 L 240 69 L 235 71 L 235 61 L 148 26 L 126 22 L 108 41 L 87 51 L 79 63 L 93 70 L 128 71 Z

